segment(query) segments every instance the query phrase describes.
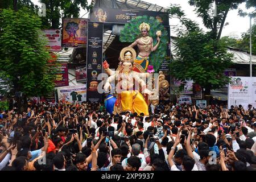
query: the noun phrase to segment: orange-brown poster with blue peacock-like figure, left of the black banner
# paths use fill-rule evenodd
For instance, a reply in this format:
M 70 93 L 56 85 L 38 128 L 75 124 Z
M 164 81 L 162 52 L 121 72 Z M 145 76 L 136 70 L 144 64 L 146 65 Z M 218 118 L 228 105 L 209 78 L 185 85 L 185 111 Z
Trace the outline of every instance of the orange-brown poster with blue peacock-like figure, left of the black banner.
M 85 47 L 87 43 L 88 19 L 63 19 L 63 47 Z

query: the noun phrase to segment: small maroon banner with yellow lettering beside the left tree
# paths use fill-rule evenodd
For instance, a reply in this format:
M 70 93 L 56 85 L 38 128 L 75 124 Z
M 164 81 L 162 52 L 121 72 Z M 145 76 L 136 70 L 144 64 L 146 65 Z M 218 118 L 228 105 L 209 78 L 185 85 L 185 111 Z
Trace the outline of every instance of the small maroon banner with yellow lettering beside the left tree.
M 55 77 L 55 87 L 57 86 L 68 86 L 68 64 L 61 63 L 59 72 L 56 73 Z

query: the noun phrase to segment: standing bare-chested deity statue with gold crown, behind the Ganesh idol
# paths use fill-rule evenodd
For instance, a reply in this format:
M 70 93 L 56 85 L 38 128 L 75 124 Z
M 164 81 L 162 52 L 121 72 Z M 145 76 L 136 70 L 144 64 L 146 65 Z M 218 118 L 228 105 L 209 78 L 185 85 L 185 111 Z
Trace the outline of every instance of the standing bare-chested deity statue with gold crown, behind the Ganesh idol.
M 141 31 L 141 38 L 135 40 L 134 43 L 132 43 L 129 47 L 138 47 L 138 56 L 134 60 L 134 63 L 137 63 L 142 66 L 142 68 L 147 71 L 148 64 L 150 62 L 149 56 L 150 53 L 153 51 L 156 51 L 156 49 L 159 46 L 160 43 L 160 36 L 161 32 L 156 32 L 156 35 L 158 38 L 156 39 L 158 43 L 156 45 L 153 45 L 153 38 L 148 36 L 148 32 L 150 31 L 150 25 L 147 23 L 142 23 L 139 26 L 139 30 Z

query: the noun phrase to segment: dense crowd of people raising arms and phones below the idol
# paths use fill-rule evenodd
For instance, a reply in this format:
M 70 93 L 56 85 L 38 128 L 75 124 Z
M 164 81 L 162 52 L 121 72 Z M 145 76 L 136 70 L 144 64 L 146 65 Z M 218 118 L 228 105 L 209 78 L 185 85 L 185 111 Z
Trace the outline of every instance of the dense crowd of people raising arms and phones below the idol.
M 102 104 L 0 111 L 2 171 L 256 170 L 256 110 L 161 103 L 150 116 Z

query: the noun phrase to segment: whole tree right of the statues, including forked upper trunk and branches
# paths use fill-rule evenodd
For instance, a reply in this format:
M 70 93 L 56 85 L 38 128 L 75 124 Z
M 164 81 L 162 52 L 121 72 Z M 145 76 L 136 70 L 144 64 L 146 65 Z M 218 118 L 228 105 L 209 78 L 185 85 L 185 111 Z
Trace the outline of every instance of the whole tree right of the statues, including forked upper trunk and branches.
M 226 14 L 230 9 L 236 9 L 241 1 L 217 1 L 216 17 L 209 13 L 212 1 L 195 0 L 189 3 L 195 6 L 197 15 L 210 31 L 204 32 L 197 23 L 186 18 L 181 7 L 170 7 L 170 16 L 178 18 L 182 24 L 175 30 L 178 35 L 174 42 L 177 58 L 171 61 L 171 75 L 182 81 L 191 79 L 205 88 L 205 94 L 210 94 L 211 89 L 228 83 L 229 78 L 224 71 L 232 64 L 233 55 L 226 51 L 225 44 L 219 39 Z

